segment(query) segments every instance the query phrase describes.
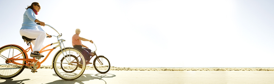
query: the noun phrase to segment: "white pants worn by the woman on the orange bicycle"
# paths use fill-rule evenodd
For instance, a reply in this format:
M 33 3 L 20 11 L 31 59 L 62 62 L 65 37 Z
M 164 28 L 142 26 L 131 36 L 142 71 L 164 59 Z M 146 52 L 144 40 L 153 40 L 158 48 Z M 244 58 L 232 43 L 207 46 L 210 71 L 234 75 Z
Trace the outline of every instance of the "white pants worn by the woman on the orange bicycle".
M 30 39 L 35 39 L 32 41 L 32 44 L 34 45 L 32 53 L 34 53 L 34 51 L 40 51 L 40 49 L 43 47 L 42 44 L 44 42 L 44 39 L 47 36 L 44 31 L 32 29 L 21 29 L 20 35 L 26 36 Z

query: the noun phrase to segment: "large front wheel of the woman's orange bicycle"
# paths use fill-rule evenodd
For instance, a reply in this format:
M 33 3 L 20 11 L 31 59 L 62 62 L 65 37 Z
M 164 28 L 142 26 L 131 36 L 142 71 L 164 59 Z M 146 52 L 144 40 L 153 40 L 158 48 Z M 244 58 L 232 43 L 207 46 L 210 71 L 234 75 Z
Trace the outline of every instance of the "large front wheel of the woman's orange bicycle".
M 64 54 L 63 54 L 64 53 Z M 65 55 L 65 56 L 64 56 Z M 76 58 L 75 56 L 80 56 Z M 74 48 L 65 48 L 58 51 L 54 56 L 53 68 L 57 76 L 64 80 L 74 80 L 82 76 L 85 71 L 85 61 L 79 62 L 78 60 L 85 60 L 80 51 Z

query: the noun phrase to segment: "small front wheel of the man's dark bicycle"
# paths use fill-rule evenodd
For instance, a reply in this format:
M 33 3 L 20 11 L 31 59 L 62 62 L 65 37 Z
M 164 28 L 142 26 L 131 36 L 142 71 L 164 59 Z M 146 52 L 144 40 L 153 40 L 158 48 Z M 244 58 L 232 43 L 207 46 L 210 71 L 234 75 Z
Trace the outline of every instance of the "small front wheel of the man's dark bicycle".
M 93 66 L 99 73 L 107 73 L 110 70 L 110 63 L 104 56 L 98 56 L 93 61 Z

